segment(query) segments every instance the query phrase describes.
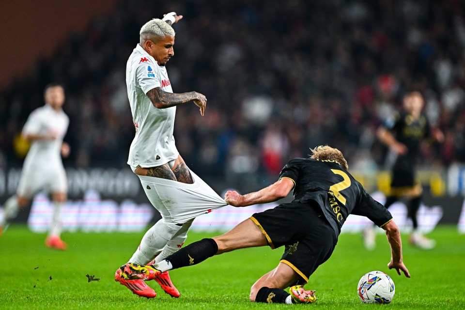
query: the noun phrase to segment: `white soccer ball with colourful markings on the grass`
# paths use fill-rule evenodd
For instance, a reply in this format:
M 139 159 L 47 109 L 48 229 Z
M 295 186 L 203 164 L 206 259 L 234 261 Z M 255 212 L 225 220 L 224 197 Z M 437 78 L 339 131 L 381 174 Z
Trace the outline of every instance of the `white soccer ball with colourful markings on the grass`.
M 384 272 L 369 272 L 358 281 L 358 298 L 364 304 L 388 304 L 394 298 L 394 293 L 394 281 Z

